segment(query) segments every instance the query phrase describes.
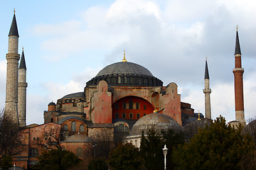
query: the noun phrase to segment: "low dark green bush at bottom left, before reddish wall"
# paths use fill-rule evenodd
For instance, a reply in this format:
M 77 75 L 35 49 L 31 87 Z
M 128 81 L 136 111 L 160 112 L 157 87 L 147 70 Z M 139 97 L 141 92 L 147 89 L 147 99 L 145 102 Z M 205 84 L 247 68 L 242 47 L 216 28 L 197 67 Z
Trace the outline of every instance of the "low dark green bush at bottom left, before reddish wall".
M 60 149 L 52 149 L 50 151 L 45 151 L 38 157 L 39 162 L 33 169 L 55 169 L 55 170 L 65 170 L 71 168 L 81 162 L 73 152 Z

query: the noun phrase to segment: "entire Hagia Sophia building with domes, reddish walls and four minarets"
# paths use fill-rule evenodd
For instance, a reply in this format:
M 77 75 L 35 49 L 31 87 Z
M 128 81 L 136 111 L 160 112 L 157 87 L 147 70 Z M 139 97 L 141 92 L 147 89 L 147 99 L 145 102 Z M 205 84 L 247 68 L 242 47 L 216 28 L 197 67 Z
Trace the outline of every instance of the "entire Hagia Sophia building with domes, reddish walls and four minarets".
M 6 114 L 18 122 L 25 137 L 26 149 L 14 156 L 16 166 L 27 169 L 38 162 L 43 151 L 36 145 L 40 140 L 45 145 L 50 139 L 50 130 L 63 133 L 60 145 L 82 158 L 88 147 L 92 147 L 97 134 L 107 130 L 113 141 L 123 134 L 125 142 L 140 146 L 142 131 L 149 128 L 180 130 L 187 124 L 201 119 L 211 120 L 210 77 L 206 60 L 205 70 L 205 116 L 195 113 L 190 103 L 181 101 L 178 86 L 163 82 L 141 64 L 127 61 L 107 65 L 95 77 L 87 81 L 85 88 L 73 94 L 60 96 L 58 101 L 48 103 L 42 125 L 26 125 L 26 62 L 22 50 L 18 54 L 18 27 L 14 13 L 9 31 L 9 51 L 6 54 Z M 19 62 L 20 60 L 20 62 Z M 241 52 L 236 32 L 235 44 L 235 120 L 232 125 L 245 125 Z

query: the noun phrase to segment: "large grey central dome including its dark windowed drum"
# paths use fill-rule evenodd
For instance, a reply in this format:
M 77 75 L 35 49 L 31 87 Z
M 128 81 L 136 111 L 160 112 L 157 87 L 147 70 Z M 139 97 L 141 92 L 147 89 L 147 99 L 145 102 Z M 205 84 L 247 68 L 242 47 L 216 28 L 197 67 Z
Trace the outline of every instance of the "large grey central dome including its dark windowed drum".
M 97 86 L 101 81 L 112 86 L 163 86 L 163 82 L 145 67 L 133 62 L 116 62 L 103 68 L 86 86 Z

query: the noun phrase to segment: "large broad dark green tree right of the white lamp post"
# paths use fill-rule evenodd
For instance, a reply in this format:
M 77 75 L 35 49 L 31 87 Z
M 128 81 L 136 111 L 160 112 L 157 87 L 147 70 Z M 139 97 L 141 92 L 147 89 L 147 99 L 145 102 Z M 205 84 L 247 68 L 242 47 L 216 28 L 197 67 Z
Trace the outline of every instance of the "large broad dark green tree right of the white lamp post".
M 242 169 L 243 155 L 254 152 L 252 137 L 231 128 L 220 116 L 174 149 L 173 159 L 176 169 Z

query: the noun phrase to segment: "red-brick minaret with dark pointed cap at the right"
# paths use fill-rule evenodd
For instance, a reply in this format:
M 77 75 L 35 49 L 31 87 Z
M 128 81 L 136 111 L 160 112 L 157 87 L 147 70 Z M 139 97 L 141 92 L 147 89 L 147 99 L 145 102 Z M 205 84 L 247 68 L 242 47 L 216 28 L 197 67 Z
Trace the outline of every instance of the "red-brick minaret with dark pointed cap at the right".
M 235 69 L 233 69 L 233 74 L 235 78 L 235 120 L 237 120 L 242 125 L 246 125 L 244 101 L 243 101 L 243 86 L 242 86 L 243 72 L 244 72 L 244 69 L 242 69 L 241 50 L 240 50 L 240 44 L 239 44 L 239 38 L 238 38 L 238 27 L 237 27 L 236 40 L 235 40 Z

